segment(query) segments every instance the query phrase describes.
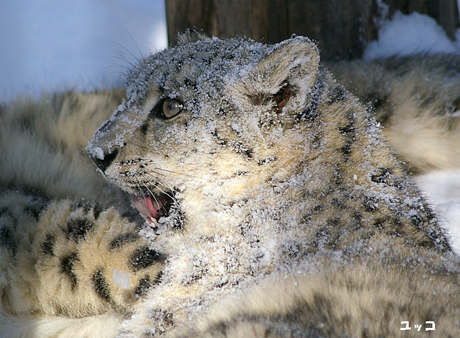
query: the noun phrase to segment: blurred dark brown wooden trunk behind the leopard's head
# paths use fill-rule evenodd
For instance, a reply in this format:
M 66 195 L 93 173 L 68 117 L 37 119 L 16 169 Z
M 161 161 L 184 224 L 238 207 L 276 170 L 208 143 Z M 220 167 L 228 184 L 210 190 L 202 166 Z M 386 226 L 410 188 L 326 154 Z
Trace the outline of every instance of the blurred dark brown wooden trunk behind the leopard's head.
M 435 18 L 451 39 L 459 27 L 457 0 L 166 0 L 171 45 L 187 28 L 268 43 L 297 34 L 316 41 L 325 59 L 360 57 L 396 11 Z

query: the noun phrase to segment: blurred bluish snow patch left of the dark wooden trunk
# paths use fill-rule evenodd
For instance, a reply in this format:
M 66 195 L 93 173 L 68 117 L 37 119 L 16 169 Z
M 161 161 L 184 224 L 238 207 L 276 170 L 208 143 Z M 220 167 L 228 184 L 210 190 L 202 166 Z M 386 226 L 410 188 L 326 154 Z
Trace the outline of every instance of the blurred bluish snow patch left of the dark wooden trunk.
M 0 101 L 117 85 L 135 59 L 166 47 L 159 0 L 2 0 L 0 32 Z

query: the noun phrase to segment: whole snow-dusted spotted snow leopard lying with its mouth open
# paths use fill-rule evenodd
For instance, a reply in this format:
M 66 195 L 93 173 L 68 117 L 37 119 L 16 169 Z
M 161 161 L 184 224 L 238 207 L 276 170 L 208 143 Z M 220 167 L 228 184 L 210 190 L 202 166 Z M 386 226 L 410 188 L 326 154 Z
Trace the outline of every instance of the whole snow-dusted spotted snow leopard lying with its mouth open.
M 75 124 L 50 136 L 28 112 L 1 112 L 4 336 L 423 336 L 432 323 L 458 335 L 458 258 L 314 45 L 182 40 L 130 73 L 127 101 L 87 148 L 143 225 L 85 171 Z M 45 119 L 89 133 L 107 110 L 73 107 Z M 33 148 L 9 141 L 27 137 Z M 48 171 L 26 167 L 35 148 Z M 88 186 L 80 170 L 62 178 L 76 166 Z

